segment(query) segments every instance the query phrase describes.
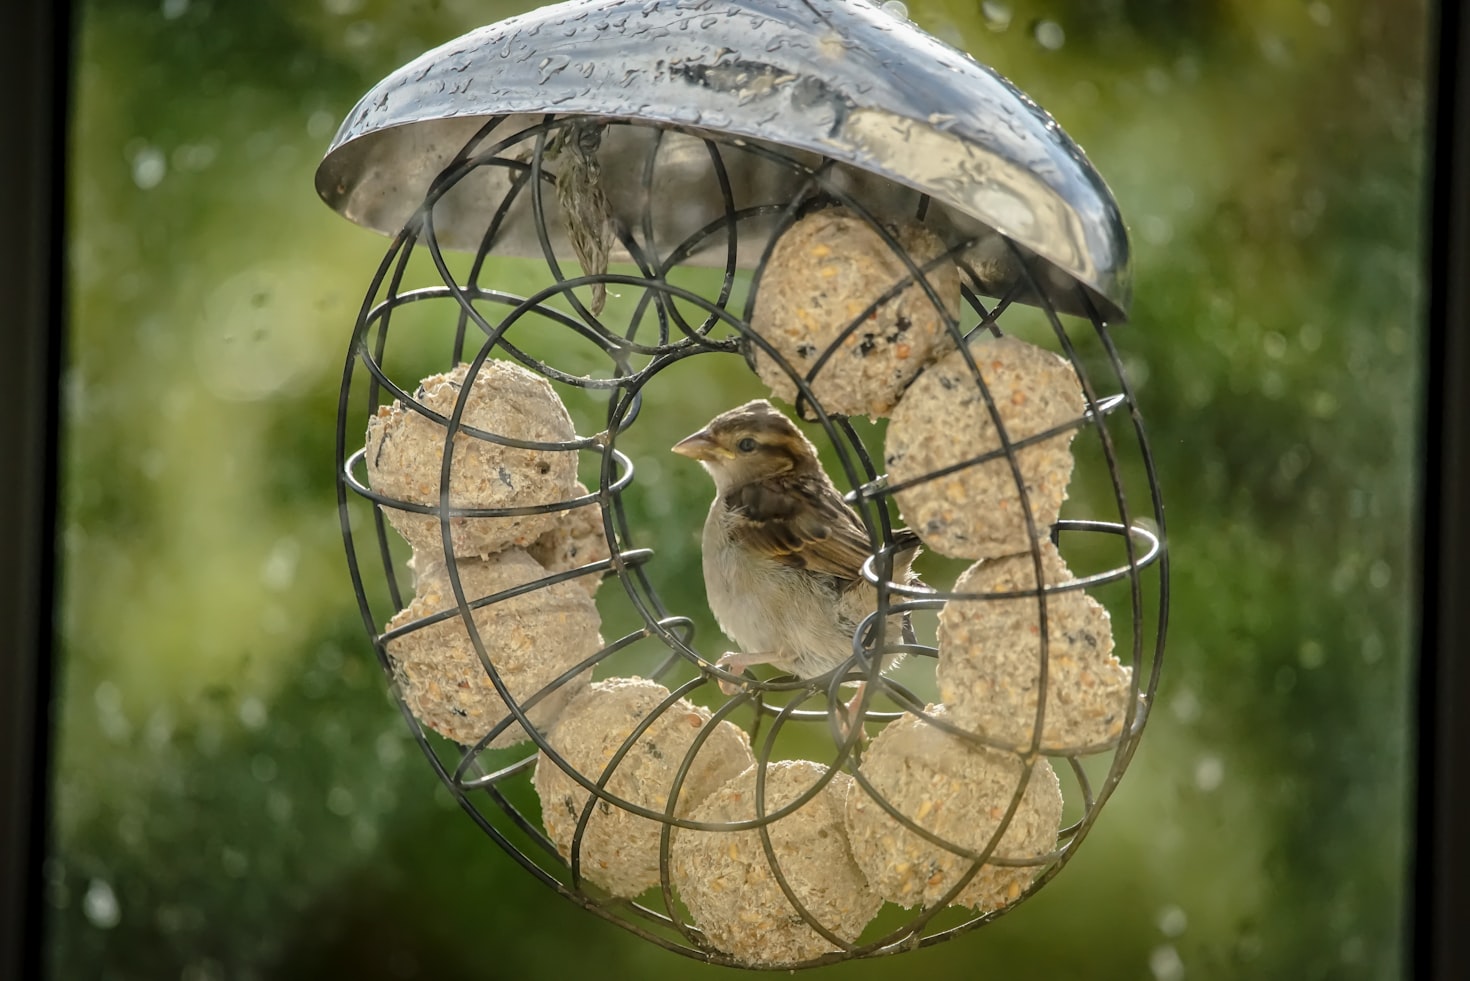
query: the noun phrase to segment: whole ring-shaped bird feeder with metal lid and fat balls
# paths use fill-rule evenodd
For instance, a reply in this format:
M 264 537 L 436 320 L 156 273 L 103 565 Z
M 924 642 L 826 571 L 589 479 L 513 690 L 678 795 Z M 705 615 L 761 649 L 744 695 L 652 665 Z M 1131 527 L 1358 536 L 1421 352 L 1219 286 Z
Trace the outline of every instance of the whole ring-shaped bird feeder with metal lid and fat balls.
M 318 190 L 392 235 L 341 385 L 353 584 L 497 844 L 748 968 L 938 943 L 1061 869 L 1141 738 L 1169 588 L 1110 329 L 1126 235 L 1050 116 L 860 0 L 570 3 L 388 76 Z M 662 596 L 703 513 L 638 497 L 676 465 L 639 428 L 695 422 L 669 375 L 739 360 L 869 537 L 814 677 L 720 660 Z

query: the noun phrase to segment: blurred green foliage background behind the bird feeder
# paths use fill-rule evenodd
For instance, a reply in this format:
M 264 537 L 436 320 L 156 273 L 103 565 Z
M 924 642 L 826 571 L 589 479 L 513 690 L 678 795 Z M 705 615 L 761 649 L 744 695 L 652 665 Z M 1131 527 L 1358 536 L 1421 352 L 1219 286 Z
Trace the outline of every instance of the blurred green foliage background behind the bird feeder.
M 576 910 L 459 812 L 343 562 L 337 388 L 387 240 L 313 171 L 382 75 L 529 6 L 81 4 L 54 978 L 729 974 Z M 1175 604 L 1144 744 L 1067 869 L 964 940 L 813 977 L 1401 977 L 1424 1 L 908 9 L 1119 197 Z M 753 391 L 736 369 L 684 372 L 675 429 Z M 650 504 L 691 534 L 692 469 Z

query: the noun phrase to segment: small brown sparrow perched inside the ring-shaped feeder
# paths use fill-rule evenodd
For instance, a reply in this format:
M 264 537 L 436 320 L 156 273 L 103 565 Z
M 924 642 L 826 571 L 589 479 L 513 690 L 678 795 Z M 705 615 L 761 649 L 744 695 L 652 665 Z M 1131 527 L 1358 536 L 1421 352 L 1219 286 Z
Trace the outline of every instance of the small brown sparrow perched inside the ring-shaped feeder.
M 764 663 L 800 678 L 839 668 L 853 656 L 858 625 L 878 607 L 878 590 L 861 575 L 873 550 L 811 441 L 757 399 L 714 416 L 673 452 L 698 460 L 714 479 L 701 540 L 704 588 L 720 629 L 741 649 L 717 666 L 738 674 Z M 917 534 L 894 532 L 892 581 L 919 584 L 911 571 L 917 553 Z M 911 638 L 907 618 L 894 616 L 888 637 L 900 634 Z M 883 669 L 897 662 L 891 657 Z M 720 688 L 735 691 L 725 682 Z

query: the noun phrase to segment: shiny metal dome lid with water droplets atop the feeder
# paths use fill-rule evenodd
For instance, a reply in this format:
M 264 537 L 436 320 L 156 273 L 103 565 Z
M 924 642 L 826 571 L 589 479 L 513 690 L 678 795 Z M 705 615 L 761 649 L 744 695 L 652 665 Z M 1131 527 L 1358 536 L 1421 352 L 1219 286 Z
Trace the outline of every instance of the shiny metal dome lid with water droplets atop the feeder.
M 642 168 L 659 129 L 833 160 L 875 210 L 928 194 L 928 221 L 978 240 L 988 291 L 1026 275 L 1008 240 L 1044 260 L 1038 287 L 1058 309 L 1085 312 L 1082 285 L 1100 315 L 1126 318 L 1127 234 L 1080 147 L 992 69 L 867 0 L 572 0 L 479 28 L 363 96 L 318 168 L 318 193 L 397 234 L 490 118 L 547 113 L 645 124 L 617 126 L 604 172 L 620 159 Z M 700 153 L 681 159 L 670 165 L 709 169 Z M 698 185 L 691 174 L 669 187 Z M 438 207 L 488 200 L 465 193 Z M 457 228 L 437 210 L 435 226 L 450 247 L 481 244 L 469 221 Z M 503 246 L 541 254 L 529 229 Z

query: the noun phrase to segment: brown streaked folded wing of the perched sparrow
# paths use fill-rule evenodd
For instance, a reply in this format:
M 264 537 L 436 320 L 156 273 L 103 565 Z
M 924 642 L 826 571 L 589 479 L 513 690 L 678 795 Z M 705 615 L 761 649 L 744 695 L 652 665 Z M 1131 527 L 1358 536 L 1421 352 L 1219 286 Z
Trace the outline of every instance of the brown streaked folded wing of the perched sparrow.
M 742 521 L 732 534 L 742 544 L 794 569 L 857 579 L 867 560 L 867 532 L 836 490 L 819 477 L 785 474 L 745 484 L 726 496 Z

